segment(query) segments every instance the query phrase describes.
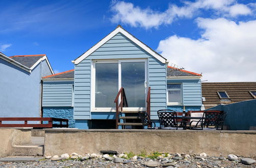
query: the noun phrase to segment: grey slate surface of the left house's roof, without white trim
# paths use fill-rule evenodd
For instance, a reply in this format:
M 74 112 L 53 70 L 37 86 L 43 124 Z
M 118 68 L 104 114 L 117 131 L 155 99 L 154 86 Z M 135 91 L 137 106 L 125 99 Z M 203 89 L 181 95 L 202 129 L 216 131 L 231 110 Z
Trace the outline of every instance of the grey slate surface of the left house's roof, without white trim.
M 36 56 L 15 55 L 10 58 L 28 68 L 31 68 L 39 59 L 41 59 L 44 56 L 45 55 L 36 55 Z

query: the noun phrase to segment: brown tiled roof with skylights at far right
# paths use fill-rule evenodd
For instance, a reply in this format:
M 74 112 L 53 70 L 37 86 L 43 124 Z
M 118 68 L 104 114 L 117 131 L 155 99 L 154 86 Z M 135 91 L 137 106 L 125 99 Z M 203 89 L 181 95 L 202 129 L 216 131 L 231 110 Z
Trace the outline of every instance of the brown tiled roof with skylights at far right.
M 220 99 L 217 92 L 226 91 L 229 98 Z M 202 82 L 205 109 L 219 104 L 230 104 L 254 99 L 249 91 L 256 91 L 256 82 Z

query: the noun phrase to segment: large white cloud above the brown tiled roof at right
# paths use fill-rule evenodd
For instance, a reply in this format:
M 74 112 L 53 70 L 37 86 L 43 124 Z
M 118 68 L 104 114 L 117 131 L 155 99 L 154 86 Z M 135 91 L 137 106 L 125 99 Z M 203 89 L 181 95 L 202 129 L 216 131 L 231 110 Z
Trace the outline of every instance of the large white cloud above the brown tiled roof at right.
M 197 19 L 201 38 L 170 36 L 157 50 L 177 65 L 208 81 L 256 81 L 256 20 Z

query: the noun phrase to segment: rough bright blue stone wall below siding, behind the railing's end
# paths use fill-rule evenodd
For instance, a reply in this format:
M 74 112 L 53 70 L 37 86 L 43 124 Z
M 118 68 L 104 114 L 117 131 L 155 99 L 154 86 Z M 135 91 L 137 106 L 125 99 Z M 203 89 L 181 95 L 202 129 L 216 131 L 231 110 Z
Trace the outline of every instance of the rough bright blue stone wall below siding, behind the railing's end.
M 43 117 L 69 119 L 69 128 L 75 128 L 73 107 L 43 107 Z

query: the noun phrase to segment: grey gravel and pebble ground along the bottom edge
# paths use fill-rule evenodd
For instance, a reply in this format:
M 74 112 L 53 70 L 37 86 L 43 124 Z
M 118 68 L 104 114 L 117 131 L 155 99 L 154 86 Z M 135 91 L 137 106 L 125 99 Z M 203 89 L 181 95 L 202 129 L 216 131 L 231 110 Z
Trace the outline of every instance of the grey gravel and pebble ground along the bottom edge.
M 242 158 L 242 157 L 239 157 Z M 255 159 L 255 157 L 253 158 Z M 151 161 L 150 161 L 151 160 Z M 240 159 L 239 159 L 240 160 Z M 127 161 L 127 160 L 126 160 Z M 196 159 L 138 159 L 130 163 L 115 163 L 114 161 L 106 161 L 104 158 L 94 158 L 84 161 L 80 160 L 58 160 L 44 159 L 37 162 L 0 162 L 0 167 L 147 167 L 148 161 L 158 162 L 157 167 L 256 167 L 256 163 L 251 165 L 242 164 L 241 161 L 230 161 L 226 158 L 206 157 L 205 160 Z M 129 162 L 129 161 L 128 161 Z M 155 163 L 156 163 L 155 162 Z M 165 163 L 164 163 L 165 162 Z M 167 163 L 166 163 L 167 162 Z M 155 167 L 155 166 L 154 166 Z

